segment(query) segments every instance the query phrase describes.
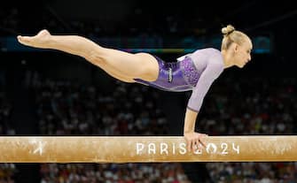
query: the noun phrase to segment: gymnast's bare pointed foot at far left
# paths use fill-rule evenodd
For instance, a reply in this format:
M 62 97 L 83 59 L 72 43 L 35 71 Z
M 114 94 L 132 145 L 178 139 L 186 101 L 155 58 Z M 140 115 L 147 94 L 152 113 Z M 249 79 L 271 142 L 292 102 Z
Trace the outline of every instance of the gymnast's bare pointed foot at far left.
M 42 30 L 35 36 L 21 36 L 18 35 L 18 41 L 24 45 L 40 48 L 40 49 L 47 49 L 49 40 L 51 38 L 51 34 L 47 30 Z

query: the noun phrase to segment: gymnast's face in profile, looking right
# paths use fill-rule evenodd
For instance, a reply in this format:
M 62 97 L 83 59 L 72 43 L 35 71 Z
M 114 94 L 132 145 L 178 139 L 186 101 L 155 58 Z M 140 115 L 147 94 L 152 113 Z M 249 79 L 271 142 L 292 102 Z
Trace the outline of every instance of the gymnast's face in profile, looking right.
M 251 60 L 251 51 L 253 44 L 250 39 L 246 38 L 246 41 L 242 44 L 235 44 L 234 47 L 234 65 L 239 68 L 244 67 Z

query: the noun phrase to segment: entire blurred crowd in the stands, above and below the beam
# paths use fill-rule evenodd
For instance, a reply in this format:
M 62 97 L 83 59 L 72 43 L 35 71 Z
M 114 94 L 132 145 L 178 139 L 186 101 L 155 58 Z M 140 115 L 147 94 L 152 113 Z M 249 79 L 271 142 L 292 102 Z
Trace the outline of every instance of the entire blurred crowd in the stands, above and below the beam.
M 296 133 L 294 78 L 218 80 L 205 98 L 198 128 L 209 135 Z M 166 135 L 160 92 L 114 81 L 111 90 L 71 80 L 35 77 L 35 112 L 41 135 Z M 230 84 L 231 83 L 231 84 Z M 102 86 L 101 86 L 102 87 Z M 190 96 L 191 93 L 187 95 Z M 12 105 L 0 93 L 0 132 L 13 134 Z M 214 182 L 293 183 L 297 163 L 207 163 Z M 1 164 L 0 182 L 13 182 L 14 164 Z M 42 183 L 191 182 L 181 164 L 42 164 Z

